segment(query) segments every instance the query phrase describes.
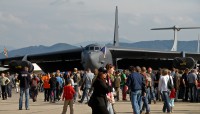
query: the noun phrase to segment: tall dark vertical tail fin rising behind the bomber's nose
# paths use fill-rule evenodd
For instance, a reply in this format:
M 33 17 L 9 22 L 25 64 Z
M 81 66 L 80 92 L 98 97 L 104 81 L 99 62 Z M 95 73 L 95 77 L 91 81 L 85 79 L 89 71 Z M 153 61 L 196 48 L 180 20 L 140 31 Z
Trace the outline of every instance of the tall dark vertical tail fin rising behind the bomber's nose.
M 114 28 L 114 42 L 113 45 L 115 47 L 119 46 L 119 34 L 118 34 L 118 29 L 119 29 L 119 25 L 118 25 L 118 8 L 116 6 L 115 9 L 115 28 Z

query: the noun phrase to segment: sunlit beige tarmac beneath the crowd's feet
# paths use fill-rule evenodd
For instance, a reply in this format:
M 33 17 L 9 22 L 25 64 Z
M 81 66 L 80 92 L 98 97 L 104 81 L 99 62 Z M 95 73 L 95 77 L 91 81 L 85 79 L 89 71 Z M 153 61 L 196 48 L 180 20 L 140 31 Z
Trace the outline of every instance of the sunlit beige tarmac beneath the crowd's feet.
M 25 110 L 23 100 L 23 109 L 18 109 L 19 93 L 13 92 L 13 96 L 7 100 L 0 99 L 0 114 L 61 114 L 63 101 L 56 103 L 44 102 L 43 93 L 39 93 L 37 102 L 29 99 L 30 110 Z M 164 114 L 162 112 L 163 103 L 161 101 L 151 104 L 151 114 Z M 119 101 L 114 104 L 117 114 L 133 114 L 130 101 Z M 70 114 L 69 107 L 67 114 Z M 85 103 L 74 104 L 74 114 L 92 114 L 92 109 Z M 175 102 L 173 114 L 200 114 L 200 103 Z

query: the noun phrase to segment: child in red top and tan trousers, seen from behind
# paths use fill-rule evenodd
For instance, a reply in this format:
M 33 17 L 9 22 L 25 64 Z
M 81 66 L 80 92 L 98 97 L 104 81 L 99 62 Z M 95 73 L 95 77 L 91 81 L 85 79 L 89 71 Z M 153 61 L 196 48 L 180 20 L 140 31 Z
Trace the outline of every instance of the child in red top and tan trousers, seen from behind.
M 71 80 L 68 80 L 68 82 L 66 83 L 66 85 L 64 87 L 64 93 L 63 93 L 63 97 L 62 97 L 62 100 L 63 101 L 65 100 L 62 114 L 66 114 L 68 105 L 70 107 L 70 114 L 74 114 L 74 108 L 73 108 L 74 94 L 75 94 L 75 91 L 74 91 L 73 87 L 71 86 Z

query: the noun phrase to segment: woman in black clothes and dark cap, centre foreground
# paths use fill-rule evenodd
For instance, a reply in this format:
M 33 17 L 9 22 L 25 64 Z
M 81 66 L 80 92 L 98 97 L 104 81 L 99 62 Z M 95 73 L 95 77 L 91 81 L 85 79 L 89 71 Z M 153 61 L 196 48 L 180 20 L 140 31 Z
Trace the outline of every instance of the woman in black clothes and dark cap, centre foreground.
M 90 98 L 93 99 L 94 104 L 91 106 L 92 114 L 109 114 L 106 94 L 110 91 L 110 88 L 106 83 L 106 75 L 106 68 L 99 68 L 97 79 L 93 84 L 94 91 Z

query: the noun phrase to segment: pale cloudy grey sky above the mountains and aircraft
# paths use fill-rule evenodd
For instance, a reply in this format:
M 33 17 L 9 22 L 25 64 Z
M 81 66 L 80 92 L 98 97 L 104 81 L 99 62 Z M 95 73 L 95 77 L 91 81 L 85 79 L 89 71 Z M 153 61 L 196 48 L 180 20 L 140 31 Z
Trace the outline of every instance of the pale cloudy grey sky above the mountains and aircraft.
M 152 28 L 200 27 L 200 0 L 0 0 L 0 45 L 111 42 L 116 6 L 120 42 L 173 39 L 173 30 Z M 198 34 L 181 30 L 178 40 Z

